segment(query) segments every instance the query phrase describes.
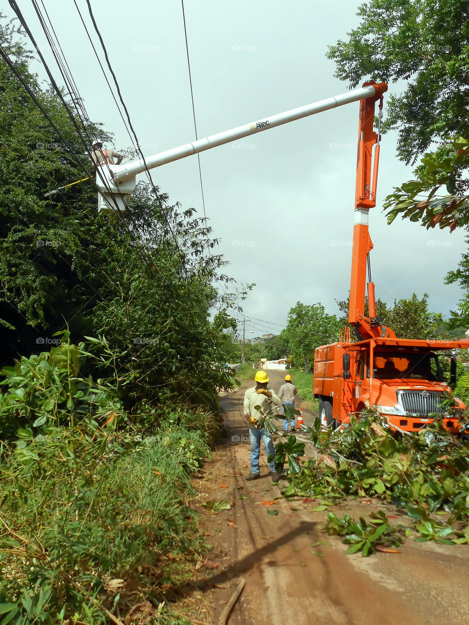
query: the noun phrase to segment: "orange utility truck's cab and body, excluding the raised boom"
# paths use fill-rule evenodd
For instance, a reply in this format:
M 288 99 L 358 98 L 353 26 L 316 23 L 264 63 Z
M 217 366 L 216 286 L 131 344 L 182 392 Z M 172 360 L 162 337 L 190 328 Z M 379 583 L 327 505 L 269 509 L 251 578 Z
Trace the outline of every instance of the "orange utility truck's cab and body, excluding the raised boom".
M 320 414 L 328 425 L 338 426 L 373 408 L 395 431 L 416 431 L 441 419 L 446 429 L 458 432 L 454 408 L 465 405 L 452 397 L 448 406 L 451 386 L 438 354 L 468 346 L 469 341 L 375 338 L 318 347 L 314 392 Z M 455 378 L 454 356 L 451 361 Z M 450 382 L 454 385 L 455 379 Z

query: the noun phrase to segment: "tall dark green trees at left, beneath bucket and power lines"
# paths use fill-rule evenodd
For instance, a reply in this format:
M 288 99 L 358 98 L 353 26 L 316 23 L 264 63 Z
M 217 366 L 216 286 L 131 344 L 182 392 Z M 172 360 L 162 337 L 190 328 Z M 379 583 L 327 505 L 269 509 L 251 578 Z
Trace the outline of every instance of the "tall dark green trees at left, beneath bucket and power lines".
M 104 334 L 119 352 L 126 407 L 164 403 L 174 392 L 181 404 L 216 409 L 217 389 L 232 386 L 222 332 L 235 329 L 228 311 L 244 293 L 227 293 L 231 280 L 211 229 L 144 185 L 121 219 L 97 214 L 91 183 L 46 197 L 84 178 L 73 153 L 88 169 L 91 161 L 59 99 L 29 72 L 31 56 L 17 38 L 14 28 L 0 26 L 0 42 L 71 150 L 2 61 L 0 365 L 37 349 L 65 320 L 76 344 Z M 109 138 L 98 126 L 87 132 Z

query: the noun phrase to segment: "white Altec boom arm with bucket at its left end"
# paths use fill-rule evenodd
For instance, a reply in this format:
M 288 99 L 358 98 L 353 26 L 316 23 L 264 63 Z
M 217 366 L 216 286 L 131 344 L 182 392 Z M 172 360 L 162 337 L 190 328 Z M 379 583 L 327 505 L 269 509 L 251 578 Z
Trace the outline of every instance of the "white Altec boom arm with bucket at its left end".
M 99 168 L 98 176 L 96 177 L 96 183 L 100 191 L 98 209 L 99 211 L 114 212 L 118 208 L 124 211 L 125 201 L 129 199 L 135 189 L 136 175 L 143 173 L 146 169 L 153 169 L 166 163 L 172 163 L 186 156 L 192 156 L 192 154 L 198 154 L 204 150 L 221 146 L 224 143 L 230 143 L 230 141 L 236 141 L 236 139 L 241 139 L 251 134 L 261 133 L 264 130 L 275 128 L 275 126 L 281 126 L 281 124 L 288 124 L 290 121 L 295 121 L 295 119 L 305 118 L 309 115 L 328 111 L 328 109 L 370 98 L 374 95 L 375 87 L 373 85 L 361 87 L 340 96 L 300 106 L 300 108 L 286 111 L 286 113 L 278 113 L 269 118 L 245 124 L 245 126 L 238 126 L 238 128 L 213 134 L 205 139 L 198 139 L 198 141 L 193 143 L 186 143 L 184 146 L 154 154 L 154 156 L 149 156 L 144 160 L 139 159 L 126 165 L 110 165 L 109 167 Z

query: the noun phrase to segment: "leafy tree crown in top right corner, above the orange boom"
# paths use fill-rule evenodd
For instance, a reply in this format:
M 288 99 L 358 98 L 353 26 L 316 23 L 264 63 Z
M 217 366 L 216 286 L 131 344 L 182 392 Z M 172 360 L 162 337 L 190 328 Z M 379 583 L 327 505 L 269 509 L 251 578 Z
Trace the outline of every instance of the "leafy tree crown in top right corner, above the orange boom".
M 403 81 L 402 92 L 387 98 L 383 128 L 399 129 L 400 158 L 409 163 L 456 131 L 469 136 L 466 2 L 371 0 L 358 17 L 360 25 L 330 47 L 328 58 L 351 86 Z

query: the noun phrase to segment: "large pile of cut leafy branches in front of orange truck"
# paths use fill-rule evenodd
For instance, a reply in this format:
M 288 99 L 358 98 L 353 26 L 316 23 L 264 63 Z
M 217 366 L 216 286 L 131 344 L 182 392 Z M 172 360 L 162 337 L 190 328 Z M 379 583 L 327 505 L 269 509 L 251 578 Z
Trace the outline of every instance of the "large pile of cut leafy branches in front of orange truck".
M 467 417 L 459 414 L 459 418 L 461 427 L 467 427 Z M 466 540 L 466 438 L 450 434 L 438 420 L 424 430 L 393 436 L 374 411 L 343 432 L 321 429 L 319 419 L 308 431 L 318 452 L 303 462 L 301 472 L 291 475 L 285 496 L 378 497 L 405 508 L 415 531 L 426 540 Z M 368 538 L 361 540 L 363 547 Z

